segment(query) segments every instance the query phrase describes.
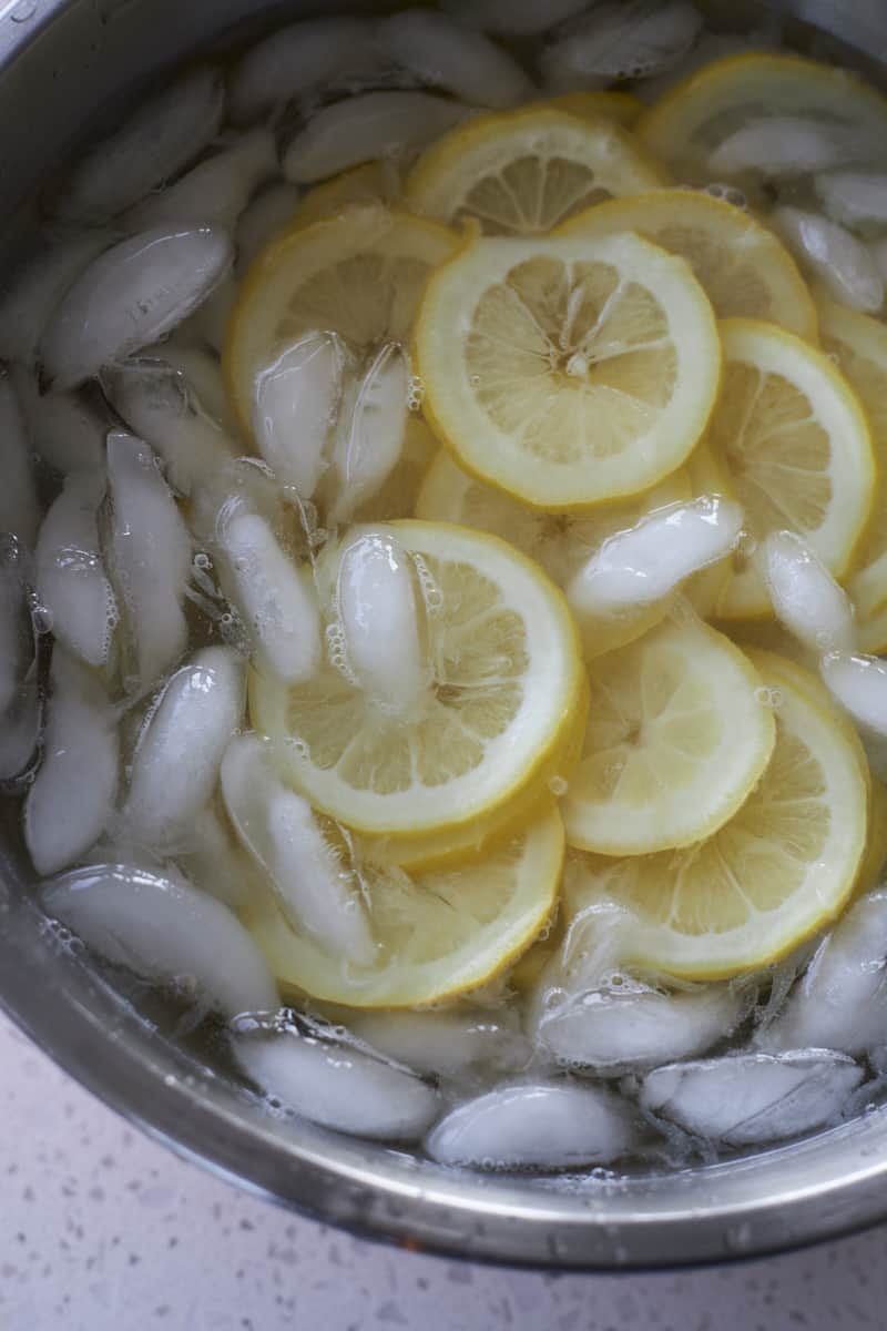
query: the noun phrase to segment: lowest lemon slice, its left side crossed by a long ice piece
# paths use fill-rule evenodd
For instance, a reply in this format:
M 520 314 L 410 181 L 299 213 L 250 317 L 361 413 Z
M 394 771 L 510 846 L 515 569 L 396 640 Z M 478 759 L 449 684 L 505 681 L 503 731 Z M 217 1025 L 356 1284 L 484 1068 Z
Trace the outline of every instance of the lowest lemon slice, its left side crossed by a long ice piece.
M 557 900 L 564 828 L 553 803 L 509 840 L 452 869 L 408 874 L 356 844 L 376 960 L 344 962 L 297 933 L 270 894 L 243 922 L 285 989 L 351 1008 L 416 1008 L 476 989 L 511 966 Z

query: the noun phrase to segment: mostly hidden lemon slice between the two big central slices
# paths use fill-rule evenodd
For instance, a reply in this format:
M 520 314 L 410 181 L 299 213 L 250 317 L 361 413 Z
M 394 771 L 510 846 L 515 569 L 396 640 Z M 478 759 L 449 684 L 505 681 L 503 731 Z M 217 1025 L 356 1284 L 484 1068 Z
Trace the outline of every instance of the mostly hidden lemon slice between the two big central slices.
M 419 491 L 416 516 L 457 522 L 511 540 L 564 588 L 608 536 L 633 527 L 656 508 L 682 503 L 692 495 L 690 478 L 681 469 L 652 490 L 621 503 L 586 512 L 543 512 L 475 480 L 442 449 Z M 634 606 L 621 615 L 582 620 L 580 632 L 586 660 L 640 638 L 665 616 L 672 599 Z

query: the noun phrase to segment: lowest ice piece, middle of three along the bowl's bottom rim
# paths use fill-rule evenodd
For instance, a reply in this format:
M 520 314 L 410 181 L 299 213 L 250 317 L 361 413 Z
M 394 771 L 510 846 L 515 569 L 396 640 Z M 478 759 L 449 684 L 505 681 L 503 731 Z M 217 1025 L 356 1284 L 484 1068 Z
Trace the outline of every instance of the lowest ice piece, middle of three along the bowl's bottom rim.
M 608 1165 L 637 1143 L 625 1101 L 567 1082 L 500 1086 L 443 1118 L 426 1139 L 440 1165 L 556 1170 Z

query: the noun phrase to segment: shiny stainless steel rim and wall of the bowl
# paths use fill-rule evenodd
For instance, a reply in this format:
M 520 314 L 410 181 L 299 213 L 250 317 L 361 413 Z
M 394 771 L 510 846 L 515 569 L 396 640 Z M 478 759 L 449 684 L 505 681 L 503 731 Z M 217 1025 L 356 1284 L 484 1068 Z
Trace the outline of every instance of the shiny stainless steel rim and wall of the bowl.
M 713 8 L 735 19 L 738 5 L 713 0 Z M 884 0 L 782 0 L 773 8 L 815 24 L 827 41 L 839 39 L 870 76 L 887 65 Z M 36 188 L 98 118 L 106 122 L 165 68 L 245 21 L 303 11 L 269 0 L 3 7 L 0 261 L 27 241 Z M 275 1121 L 72 954 L 27 885 L 9 821 L 0 843 L 0 1004 L 21 1029 L 173 1150 L 324 1221 L 463 1258 L 612 1270 L 770 1252 L 887 1217 L 882 1110 L 753 1158 L 618 1182 L 477 1177 Z

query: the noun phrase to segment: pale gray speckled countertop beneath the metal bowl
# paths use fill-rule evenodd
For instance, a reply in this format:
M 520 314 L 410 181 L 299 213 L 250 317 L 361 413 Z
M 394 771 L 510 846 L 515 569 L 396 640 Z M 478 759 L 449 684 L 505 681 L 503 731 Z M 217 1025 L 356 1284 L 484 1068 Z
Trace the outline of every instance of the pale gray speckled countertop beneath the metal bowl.
M 362 1243 L 129 1129 L 0 1018 L 1 1331 L 852 1331 L 887 1230 L 676 1275 L 535 1275 Z

